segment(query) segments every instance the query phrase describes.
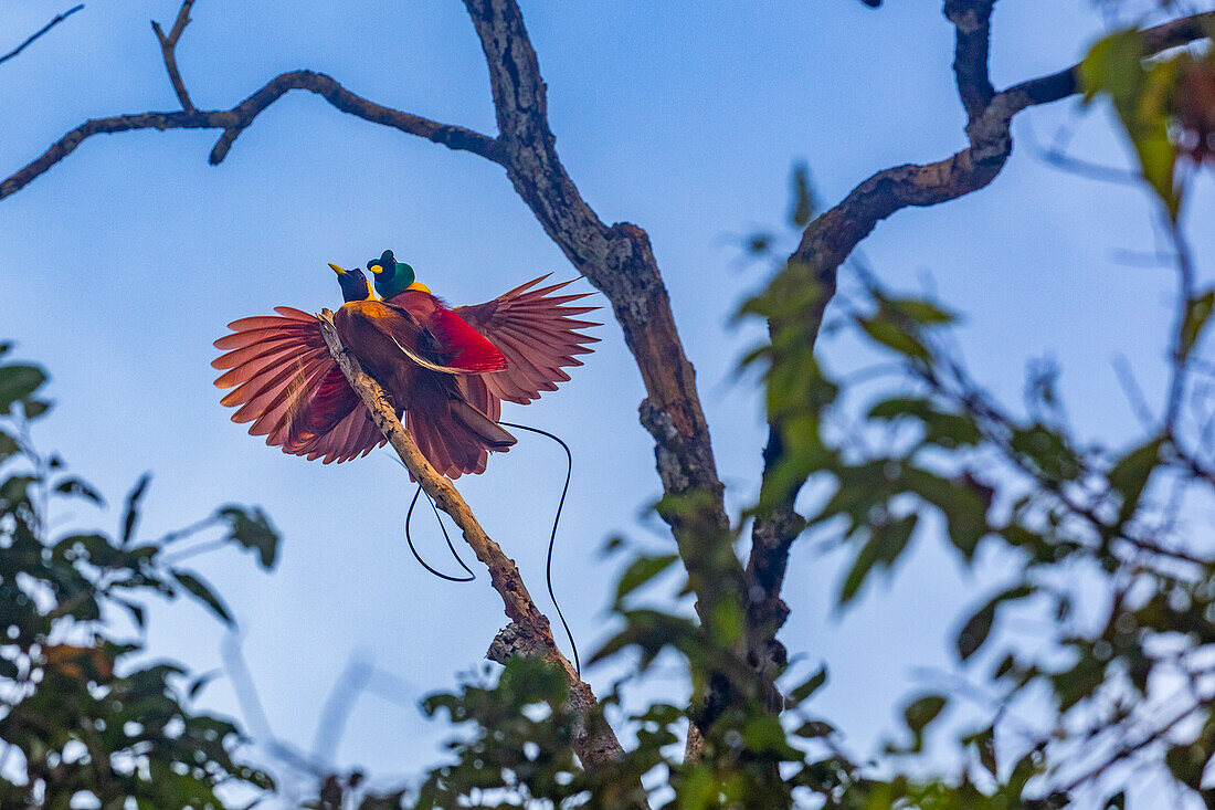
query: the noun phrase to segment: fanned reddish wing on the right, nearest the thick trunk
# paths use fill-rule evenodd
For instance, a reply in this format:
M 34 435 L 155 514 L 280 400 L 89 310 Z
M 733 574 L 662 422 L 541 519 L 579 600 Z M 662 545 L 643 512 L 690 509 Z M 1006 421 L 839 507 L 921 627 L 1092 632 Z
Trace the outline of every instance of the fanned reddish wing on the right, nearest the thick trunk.
M 556 390 L 559 382 L 570 378 L 561 369 L 581 366 L 575 355 L 589 354 L 587 344 L 599 341 L 577 330 L 600 324 L 575 317 L 599 308 L 569 305 L 590 293 L 554 296 L 577 280 L 536 287 L 546 279 L 533 279 L 485 304 L 452 310 L 507 358 L 504 371 L 481 375 L 484 392 L 476 384 L 468 392 L 473 404 L 486 414 L 497 414 L 501 399 L 526 405 L 539 399 L 541 392 Z

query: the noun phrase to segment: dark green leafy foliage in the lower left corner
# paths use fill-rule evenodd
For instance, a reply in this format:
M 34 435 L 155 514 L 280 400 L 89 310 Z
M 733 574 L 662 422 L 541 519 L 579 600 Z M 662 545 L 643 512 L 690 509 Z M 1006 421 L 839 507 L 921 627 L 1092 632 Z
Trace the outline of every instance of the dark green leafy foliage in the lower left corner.
M 147 477 L 114 535 L 60 531 L 74 522 L 60 504 L 104 502 L 58 456 L 35 451 L 30 423 L 50 407 L 45 383 L 35 365 L 0 361 L 0 806 L 219 809 L 221 786 L 271 791 L 265 772 L 237 758 L 241 731 L 190 708 L 208 676 L 149 662 L 140 636 L 151 597 L 186 594 L 232 621 L 202 576 L 181 567 L 205 550 L 186 541 L 219 530 L 207 545 L 253 549 L 269 568 L 278 535 L 260 511 L 226 506 L 140 540 Z

